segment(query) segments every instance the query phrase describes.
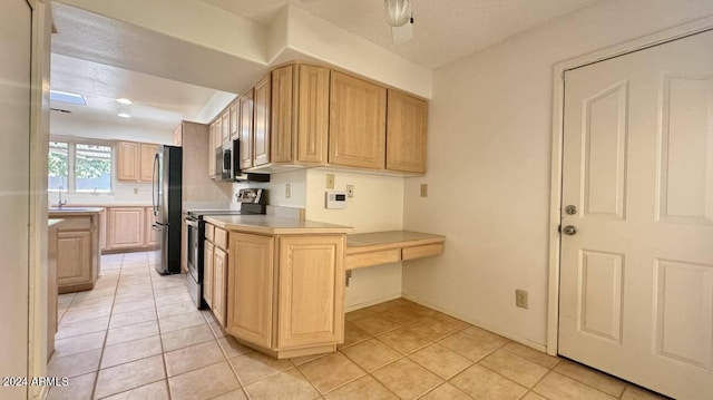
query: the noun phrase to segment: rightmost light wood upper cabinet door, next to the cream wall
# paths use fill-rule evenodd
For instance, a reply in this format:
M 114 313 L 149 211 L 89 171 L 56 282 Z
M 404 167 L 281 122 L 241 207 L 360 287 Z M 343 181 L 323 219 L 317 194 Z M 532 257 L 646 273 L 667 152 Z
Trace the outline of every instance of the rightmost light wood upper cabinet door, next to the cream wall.
M 428 103 L 390 89 L 387 110 L 387 169 L 424 174 Z

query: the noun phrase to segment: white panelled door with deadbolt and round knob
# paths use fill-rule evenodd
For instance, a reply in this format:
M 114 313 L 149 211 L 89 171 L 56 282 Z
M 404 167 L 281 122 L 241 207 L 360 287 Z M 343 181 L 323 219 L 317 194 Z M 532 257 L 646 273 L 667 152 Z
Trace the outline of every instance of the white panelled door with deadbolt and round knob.
M 713 32 L 567 71 L 564 118 L 558 352 L 713 399 Z

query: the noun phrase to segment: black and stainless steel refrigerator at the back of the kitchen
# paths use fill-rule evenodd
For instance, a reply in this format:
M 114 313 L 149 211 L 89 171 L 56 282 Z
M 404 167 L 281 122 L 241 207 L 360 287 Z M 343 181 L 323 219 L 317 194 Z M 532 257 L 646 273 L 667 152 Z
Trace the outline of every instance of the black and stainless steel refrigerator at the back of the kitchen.
M 152 203 L 160 247 L 154 265 L 162 275 L 180 273 L 180 181 L 183 149 L 160 146 L 154 157 Z

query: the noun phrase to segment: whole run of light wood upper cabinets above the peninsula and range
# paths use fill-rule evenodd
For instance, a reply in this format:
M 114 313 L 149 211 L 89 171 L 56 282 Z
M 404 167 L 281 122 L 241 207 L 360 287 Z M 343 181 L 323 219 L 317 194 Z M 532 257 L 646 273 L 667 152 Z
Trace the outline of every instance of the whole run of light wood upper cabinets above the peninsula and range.
M 424 174 L 427 115 L 423 99 L 295 62 L 273 69 L 226 107 L 214 121 L 215 142 L 240 138 L 243 170 L 334 165 Z

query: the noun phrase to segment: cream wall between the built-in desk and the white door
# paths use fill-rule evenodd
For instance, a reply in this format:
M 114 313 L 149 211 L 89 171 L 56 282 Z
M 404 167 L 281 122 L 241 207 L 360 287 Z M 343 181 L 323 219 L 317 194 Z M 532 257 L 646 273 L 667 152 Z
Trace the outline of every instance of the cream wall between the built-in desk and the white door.
M 404 226 L 445 234 L 446 252 L 404 263 L 404 295 L 544 349 L 553 66 L 711 13 L 709 0 L 603 1 L 438 69 Z

